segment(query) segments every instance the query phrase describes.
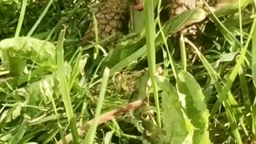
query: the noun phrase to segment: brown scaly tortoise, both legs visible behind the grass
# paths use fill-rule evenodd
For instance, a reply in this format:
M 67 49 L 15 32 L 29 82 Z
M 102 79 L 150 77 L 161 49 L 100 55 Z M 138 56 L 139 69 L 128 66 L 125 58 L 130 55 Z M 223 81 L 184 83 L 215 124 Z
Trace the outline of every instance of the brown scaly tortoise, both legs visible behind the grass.
M 232 0 L 208 0 L 211 6 L 217 6 L 221 2 L 230 2 Z M 186 10 L 196 7 L 202 7 L 202 0 L 162 0 L 162 3 L 169 3 L 169 16 L 174 17 Z M 142 10 L 142 0 L 105 0 L 99 3 L 95 18 L 98 22 L 98 37 L 107 38 L 116 32 L 127 31 L 130 20 L 130 10 Z M 180 34 L 197 34 L 195 26 L 186 27 Z M 82 38 L 81 45 L 95 38 L 94 25 L 91 25 Z

